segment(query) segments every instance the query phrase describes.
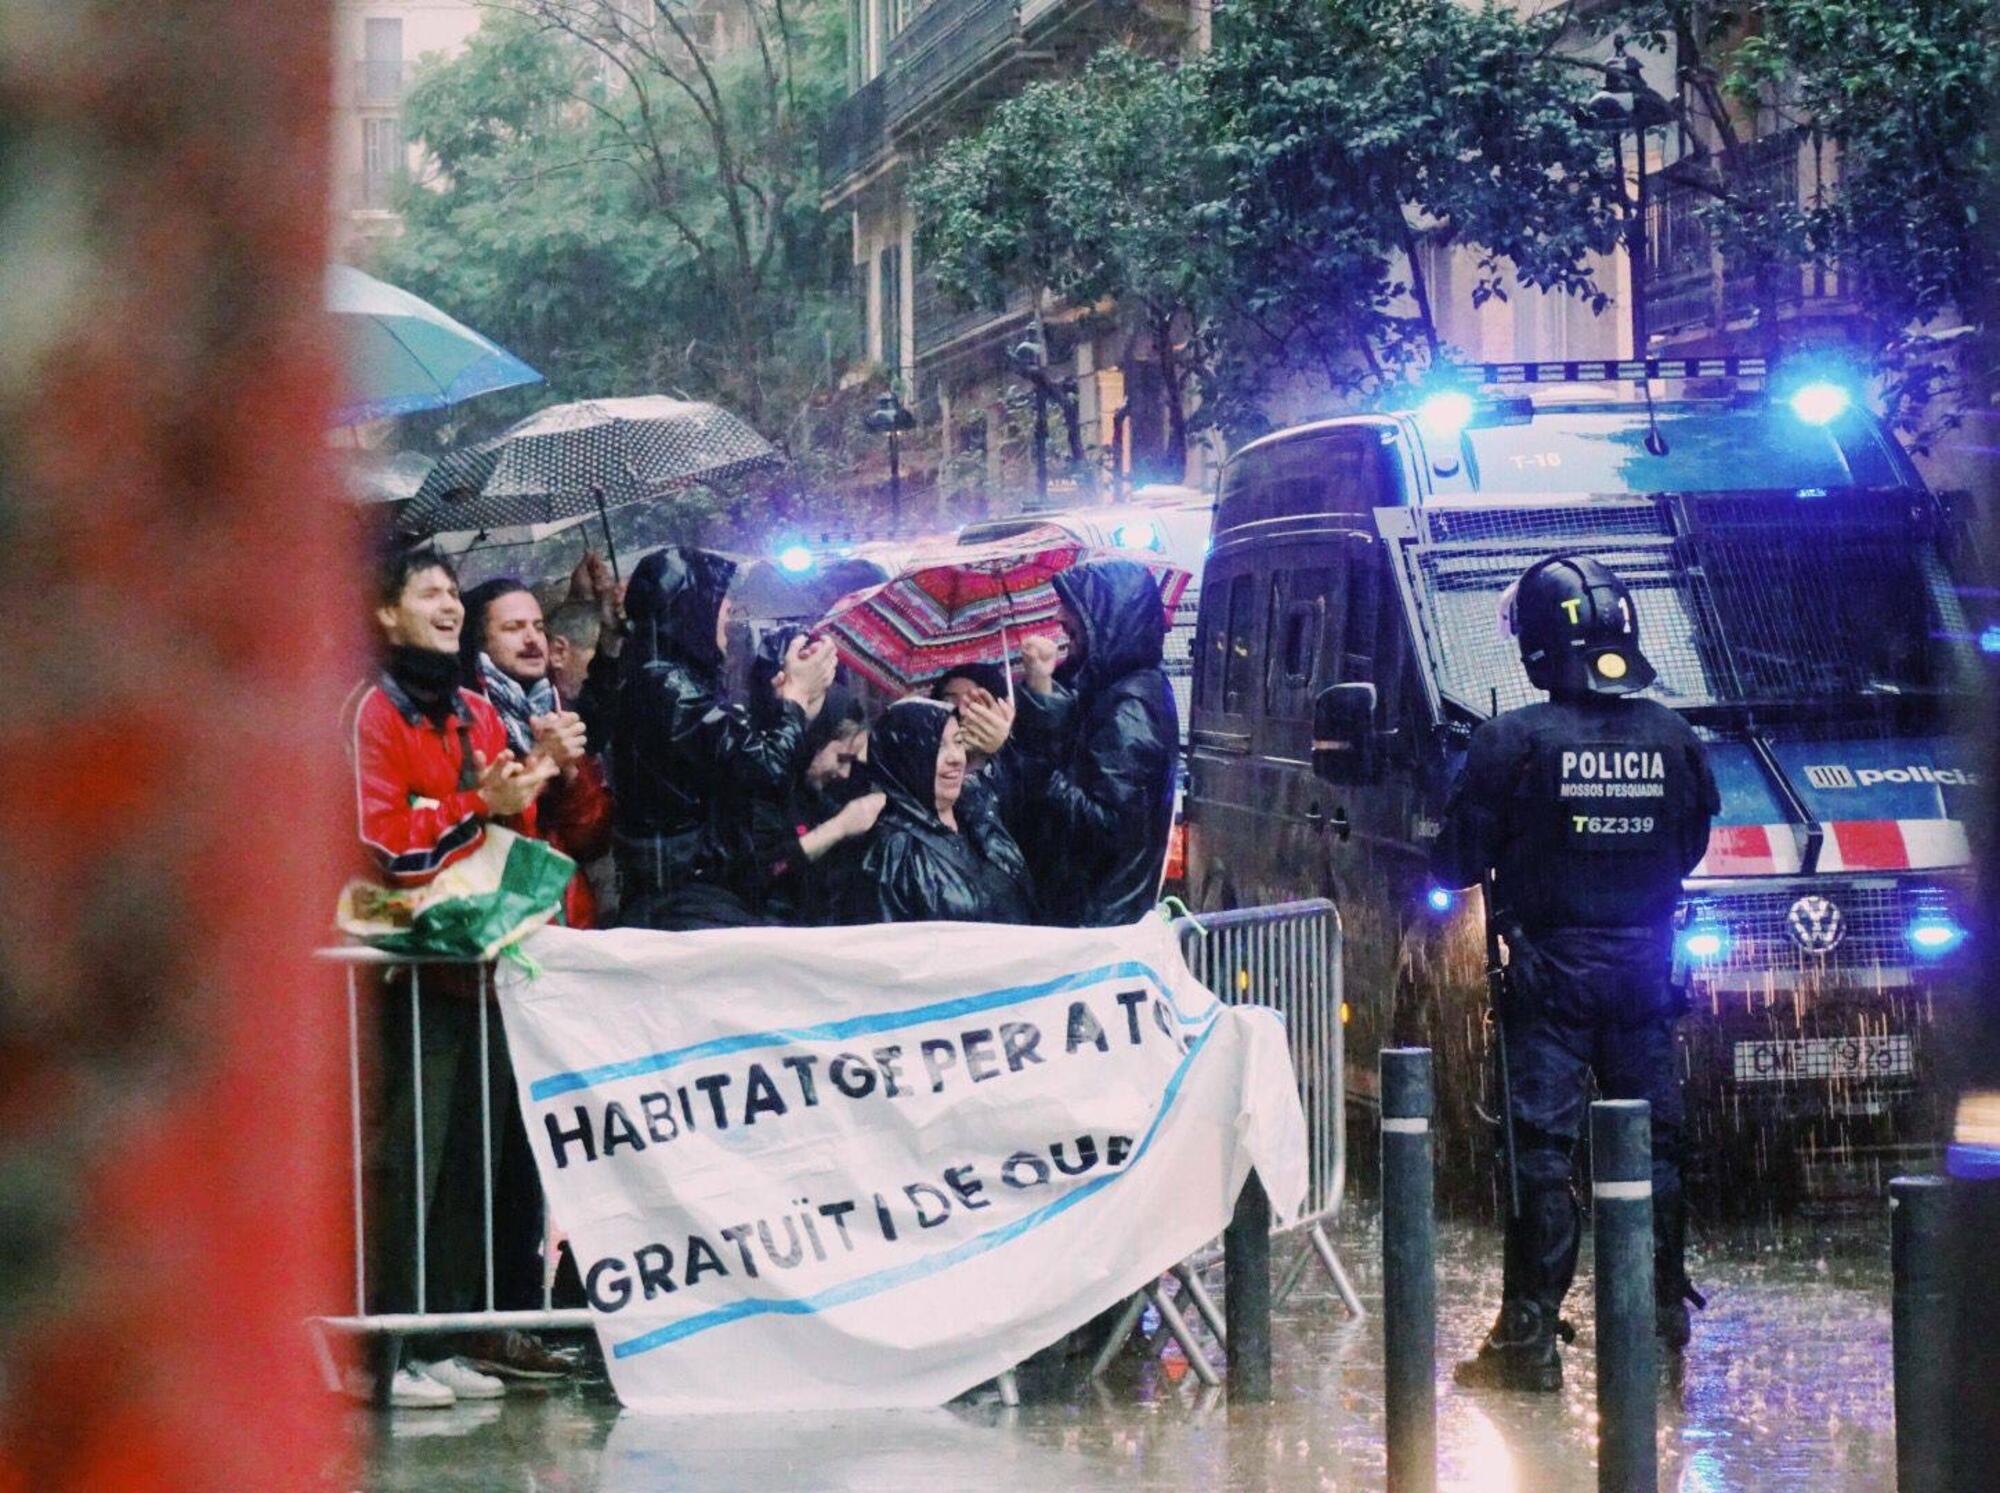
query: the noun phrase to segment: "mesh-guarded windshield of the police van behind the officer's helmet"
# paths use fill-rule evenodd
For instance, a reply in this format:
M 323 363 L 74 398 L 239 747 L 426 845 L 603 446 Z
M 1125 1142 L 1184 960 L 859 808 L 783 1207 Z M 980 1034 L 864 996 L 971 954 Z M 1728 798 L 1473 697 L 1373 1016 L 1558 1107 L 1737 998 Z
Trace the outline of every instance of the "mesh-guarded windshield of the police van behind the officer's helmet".
M 1540 698 L 1500 598 L 1536 558 L 1588 552 L 1632 588 L 1652 694 L 1676 708 L 1812 704 L 1958 688 L 1968 624 L 1904 494 L 1712 492 L 1392 508 L 1398 580 L 1438 688 L 1486 714 Z

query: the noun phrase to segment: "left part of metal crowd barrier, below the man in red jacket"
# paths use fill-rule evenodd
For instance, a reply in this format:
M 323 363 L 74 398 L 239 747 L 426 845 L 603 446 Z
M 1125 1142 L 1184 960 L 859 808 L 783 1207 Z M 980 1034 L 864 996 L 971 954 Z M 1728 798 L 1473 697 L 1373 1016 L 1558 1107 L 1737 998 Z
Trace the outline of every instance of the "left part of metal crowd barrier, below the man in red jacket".
M 492 967 L 490 965 L 468 965 L 456 959 L 420 959 L 406 955 L 388 955 L 378 949 L 324 949 L 322 959 L 338 961 L 346 965 L 348 977 L 348 1145 L 350 1145 L 350 1165 L 352 1165 L 352 1185 L 354 1185 L 354 1311 L 350 1315 L 324 1315 L 314 1317 L 310 1327 L 314 1329 L 314 1349 L 320 1359 L 320 1369 L 328 1377 L 330 1385 L 338 1383 L 338 1373 L 334 1359 L 326 1347 L 326 1333 L 356 1333 L 356 1335 L 376 1335 L 376 1337 L 410 1337 L 418 1333 L 478 1333 L 478 1331 L 508 1331 L 508 1329 L 562 1329 L 562 1327 L 590 1327 L 590 1311 L 584 1307 L 556 1307 L 554 1305 L 554 1269 L 550 1261 L 550 1237 L 548 1237 L 548 1213 L 542 1213 L 542 1305 L 538 1309 L 514 1309 L 502 1311 L 494 1301 L 494 1095 L 492 1095 L 492 1029 L 500 1021 L 500 1011 L 492 1001 Z M 368 1309 L 368 1155 L 366 1155 L 366 1119 L 362 1115 L 362 1001 L 360 1001 L 360 981 L 362 971 L 380 971 L 384 977 L 392 971 L 406 973 L 400 983 L 404 991 L 388 989 L 388 979 L 384 979 L 384 1001 L 408 1001 L 410 1007 L 410 1083 L 418 1097 L 424 1093 L 424 977 L 426 971 L 470 971 L 476 981 L 476 1007 L 478 1007 L 478 1085 L 480 1085 L 480 1235 L 484 1245 L 484 1307 L 476 1311 L 432 1311 L 430 1309 L 430 1281 L 428 1281 L 428 1259 L 430 1259 L 430 1239 L 428 1239 L 428 1189 L 422 1183 L 424 1177 L 424 1105 L 412 1105 L 414 1123 L 410 1127 L 410 1149 L 414 1159 L 414 1173 L 418 1185 L 412 1189 L 414 1209 L 410 1219 L 410 1233 L 406 1235 L 410 1247 L 416 1255 L 414 1271 L 414 1311 L 370 1311 Z M 458 979 L 466 979 L 458 975 Z M 448 1115 L 428 1117 L 432 1123 L 448 1123 Z M 386 1373 L 382 1379 L 386 1381 Z

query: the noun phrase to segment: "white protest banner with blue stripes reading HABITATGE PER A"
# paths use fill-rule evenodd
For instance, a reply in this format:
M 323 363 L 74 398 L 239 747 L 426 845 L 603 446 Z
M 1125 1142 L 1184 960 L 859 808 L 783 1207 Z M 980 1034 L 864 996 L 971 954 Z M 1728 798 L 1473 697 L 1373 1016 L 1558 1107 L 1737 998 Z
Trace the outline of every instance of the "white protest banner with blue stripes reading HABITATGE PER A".
M 1160 919 L 524 949 L 522 1115 L 636 1409 L 940 1405 L 1212 1241 L 1252 1167 L 1304 1205 L 1278 1017 Z

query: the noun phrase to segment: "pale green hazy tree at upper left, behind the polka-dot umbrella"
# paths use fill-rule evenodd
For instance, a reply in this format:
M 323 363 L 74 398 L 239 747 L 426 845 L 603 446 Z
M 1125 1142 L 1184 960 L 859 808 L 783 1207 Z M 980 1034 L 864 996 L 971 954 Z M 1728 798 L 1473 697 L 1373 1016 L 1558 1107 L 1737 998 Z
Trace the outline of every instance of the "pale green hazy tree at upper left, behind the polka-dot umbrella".
M 806 444 L 854 342 L 816 160 L 844 10 L 740 0 L 720 44 L 698 10 L 490 0 L 412 86 L 428 170 L 382 268 L 542 368 L 542 396 L 680 390 Z

